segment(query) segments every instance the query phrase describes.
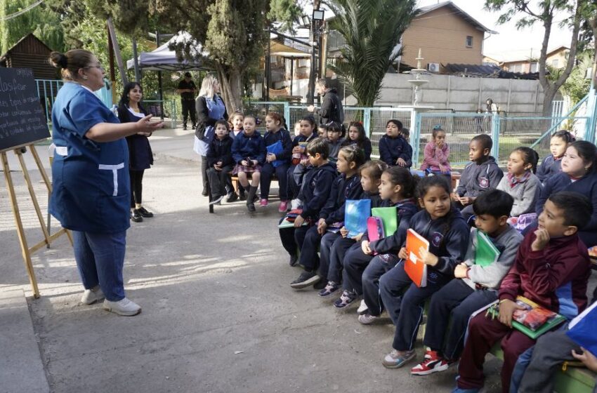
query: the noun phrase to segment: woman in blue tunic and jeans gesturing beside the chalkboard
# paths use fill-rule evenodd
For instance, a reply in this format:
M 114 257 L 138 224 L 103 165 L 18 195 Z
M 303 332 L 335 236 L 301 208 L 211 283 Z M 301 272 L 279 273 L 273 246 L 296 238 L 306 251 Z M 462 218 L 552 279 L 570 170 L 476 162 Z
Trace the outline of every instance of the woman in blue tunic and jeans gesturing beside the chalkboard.
M 93 94 L 104 70 L 93 53 L 52 52 L 65 84 L 52 110 L 53 191 L 48 210 L 71 229 L 74 258 L 85 292 L 81 302 L 105 298 L 103 308 L 136 315 L 141 308 L 124 295 L 122 268 L 131 204 L 129 152 L 124 137 L 151 133 L 162 122 L 145 116 L 135 123 L 118 118 Z

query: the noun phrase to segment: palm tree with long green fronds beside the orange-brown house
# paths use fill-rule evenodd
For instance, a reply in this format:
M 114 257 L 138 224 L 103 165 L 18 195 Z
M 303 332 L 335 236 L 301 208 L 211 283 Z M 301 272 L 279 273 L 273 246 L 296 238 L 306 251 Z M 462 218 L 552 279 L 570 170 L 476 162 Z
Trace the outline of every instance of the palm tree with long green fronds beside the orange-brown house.
M 357 105 L 371 107 L 379 99 L 383 76 L 398 56 L 400 36 L 416 13 L 416 1 L 333 0 L 332 29 L 346 46 L 341 59 L 329 65 L 353 91 Z

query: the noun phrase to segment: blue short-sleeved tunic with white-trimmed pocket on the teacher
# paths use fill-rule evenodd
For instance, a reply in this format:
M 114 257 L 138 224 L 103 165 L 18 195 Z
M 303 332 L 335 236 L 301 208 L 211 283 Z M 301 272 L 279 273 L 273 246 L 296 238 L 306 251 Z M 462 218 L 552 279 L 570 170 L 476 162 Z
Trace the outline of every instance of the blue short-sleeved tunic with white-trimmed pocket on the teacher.
M 99 123 L 119 123 L 91 91 L 64 84 L 52 109 L 56 153 L 48 210 L 63 227 L 91 233 L 128 229 L 131 206 L 129 149 L 125 138 L 93 142 L 85 137 Z

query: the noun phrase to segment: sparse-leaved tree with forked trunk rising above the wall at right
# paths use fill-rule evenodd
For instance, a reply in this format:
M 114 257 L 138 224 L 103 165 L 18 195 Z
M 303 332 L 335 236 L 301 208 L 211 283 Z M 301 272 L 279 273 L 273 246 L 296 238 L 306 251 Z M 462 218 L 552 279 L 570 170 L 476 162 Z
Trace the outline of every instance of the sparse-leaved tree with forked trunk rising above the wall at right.
M 485 0 L 485 9 L 489 11 L 503 11 L 497 22 L 505 23 L 513 18 L 523 15 L 516 22 L 518 29 L 534 25 L 539 22 L 543 25 L 544 35 L 539 55 L 539 83 L 543 88 L 543 114 L 551 115 L 551 102 L 558 92 L 558 89 L 565 83 L 575 65 L 575 59 L 579 44 L 580 25 L 583 20 L 583 11 L 588 0 Z M 536 5 L 532 5 L 537 3 Z M 554 23 L 556 13 L 568 13 L 564 23 L 572 27 L 572 39 L 570 39 L 570 53 L 563 71 L 557 79 L 550 81 L 546 74 L 547 47 L 551 37 L 551 25 Z

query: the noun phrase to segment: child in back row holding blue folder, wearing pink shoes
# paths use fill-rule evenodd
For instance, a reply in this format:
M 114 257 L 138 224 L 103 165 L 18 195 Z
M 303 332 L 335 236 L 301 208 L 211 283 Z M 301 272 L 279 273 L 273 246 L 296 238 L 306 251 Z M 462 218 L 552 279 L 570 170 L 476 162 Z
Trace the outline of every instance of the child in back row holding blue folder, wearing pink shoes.
M 289 202 L 287 172 L 292 155 L 292 140 L 290 133 L 284 128 L 284 119 L 278 113 L 270 112 L 265 116 L 265 129 L 268 130 L 263 135 L 265 149 L 267 150 L 268 147 L 275 145 L 277 142 L 280 142 L 282 146 L 276 154 L 271 152 L 265 154 L 265 163 L 261 167 L 261 201 L 259 206 L 262 208 L 268 206 L 272 175 L 275 173 L 280 186 L 278 189 L 280 194 L 278 211 L 285 213 Z

